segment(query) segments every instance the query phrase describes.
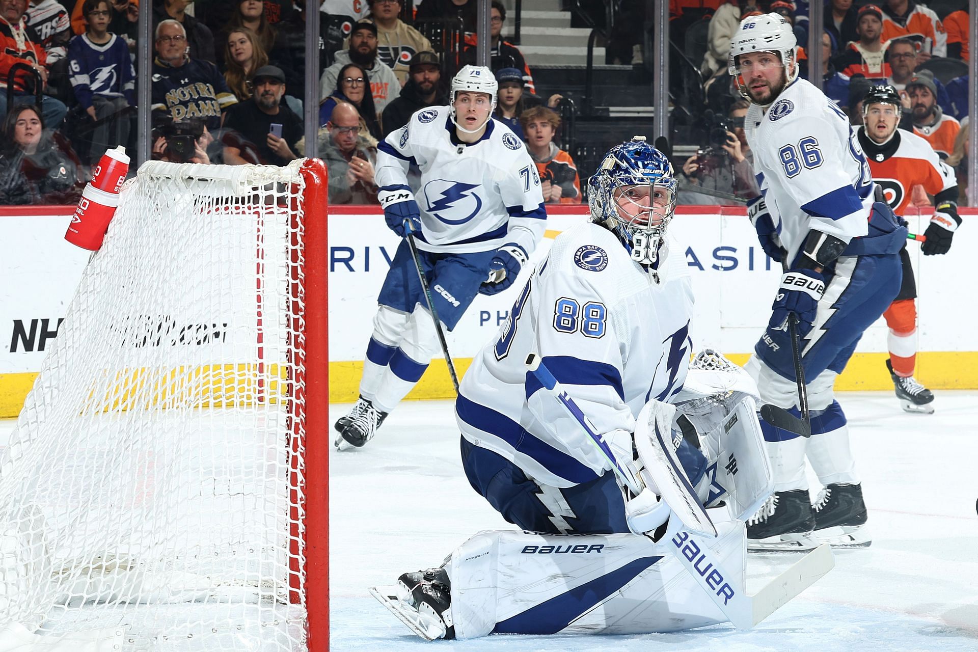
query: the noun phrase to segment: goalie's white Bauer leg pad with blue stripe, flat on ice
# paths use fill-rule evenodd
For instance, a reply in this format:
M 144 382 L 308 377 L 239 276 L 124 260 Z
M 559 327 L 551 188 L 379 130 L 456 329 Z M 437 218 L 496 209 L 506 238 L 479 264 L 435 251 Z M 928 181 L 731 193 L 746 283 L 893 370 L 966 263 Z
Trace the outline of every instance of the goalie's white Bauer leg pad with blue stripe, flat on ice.
M 710 548 L 745 583 L 743 524 L 718 524 Z M 635 535 L 558 537 L 481 532 L 452 553 L 452 619 L 458 638 L 524 634 L 648 633 L 726 622 L 686 569 Z M 700 569 L 709 575 L 712 569 Z

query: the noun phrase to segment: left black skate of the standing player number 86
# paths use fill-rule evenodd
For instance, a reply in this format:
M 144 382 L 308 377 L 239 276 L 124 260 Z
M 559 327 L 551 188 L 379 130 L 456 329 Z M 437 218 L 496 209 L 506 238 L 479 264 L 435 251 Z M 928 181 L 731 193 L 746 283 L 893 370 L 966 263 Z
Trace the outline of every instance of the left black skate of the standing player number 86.
M 815 516 L 808 490 L 775 492 L 747 521 L 747 550 L 811 550 L 819 544 L 812 538 L 814 529 Z

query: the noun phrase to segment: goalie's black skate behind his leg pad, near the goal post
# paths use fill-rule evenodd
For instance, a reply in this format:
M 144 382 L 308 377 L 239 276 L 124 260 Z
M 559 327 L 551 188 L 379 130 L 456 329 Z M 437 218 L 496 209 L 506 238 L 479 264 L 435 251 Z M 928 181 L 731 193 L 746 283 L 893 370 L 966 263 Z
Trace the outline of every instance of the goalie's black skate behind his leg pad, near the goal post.
M 422 638 L 455 638 L 451 583 L 444 568 L 405 573 L 393 587 L 370 587 L 370 594 Z

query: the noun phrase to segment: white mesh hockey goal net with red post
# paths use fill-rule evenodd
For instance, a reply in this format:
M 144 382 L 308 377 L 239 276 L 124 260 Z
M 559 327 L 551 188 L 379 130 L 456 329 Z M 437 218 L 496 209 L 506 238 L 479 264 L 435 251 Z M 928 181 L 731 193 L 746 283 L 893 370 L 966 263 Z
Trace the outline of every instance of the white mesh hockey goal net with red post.
M 0 649 L 328 649 L 327 188 L 127 182 L 0 462 Z

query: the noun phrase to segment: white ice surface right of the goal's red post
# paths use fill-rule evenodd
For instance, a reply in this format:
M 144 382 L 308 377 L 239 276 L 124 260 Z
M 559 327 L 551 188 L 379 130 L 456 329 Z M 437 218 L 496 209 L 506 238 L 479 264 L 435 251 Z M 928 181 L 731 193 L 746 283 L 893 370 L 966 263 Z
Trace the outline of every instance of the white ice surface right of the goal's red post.
M 330 649 L 978 651 L 978 392 L 940 391 L 930 415 L 904 413 L 890 392 L 838 398 L 873 543 L 837 551 L 833 571 L 756 629 L 435 642 L 412 634 L 366 587 L 438 565 L 479 530 L 512 526 L 468 486 L 452 403 L 405 402 L 364 449 L 330 460 Z M 349 407 L 334 405 L 331 422 Z M 811 487 L 814 498 L 814 476 Z M 750 555 L 748 589 L 795 558 Z

